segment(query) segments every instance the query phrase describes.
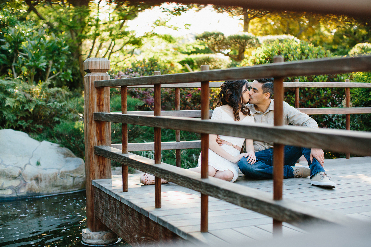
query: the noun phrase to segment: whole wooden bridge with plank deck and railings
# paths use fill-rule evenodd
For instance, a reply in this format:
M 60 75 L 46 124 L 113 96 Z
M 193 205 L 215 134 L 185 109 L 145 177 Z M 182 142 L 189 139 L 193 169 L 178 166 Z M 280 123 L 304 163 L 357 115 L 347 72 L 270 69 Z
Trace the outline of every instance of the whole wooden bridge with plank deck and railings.
M 201 72 L 109 80 L 108 60 L 87 59 L 84 105 L 88 229 L 111 229 L 133 246 L 160 241 L 212 245 L 259 240 L 272 233 L 302 234 L 311 231 L 313 224 L 354 225 L 360 222 L 355 218 L 367 220 L 371 216 L 370 157 L 326 160 L 325 169 L 338 184 L 329 190 L 311 186 L 309 178 L 283 181 L 283 145 L 370 156 L 371 133 L 283 126 L 276 119 L 282 119 L 284 86 L 345 87 L 347 92 L 350 87 L 370 87 L 369 83 L 350 82 L 283 83 L 284 77 L 370 71 L 371 56 L 276 62 L 224 70 L 203 66 Z M 275 115 L 275 126 L 209 120 L 209 88 L 221 83 L 213 81 L 264 77 L 275 78 L 275 114 L 280 114 Z M 127 88 L 149 85 L 154 87 L 154 111 L 127 112 Z M 116 86 L 121 87 L 122 112 L 110 112 L 109 90 Z M 161 86 L 175 87 L 177 111 L 160 111 Z M 197 86 L 201 87 L 201 111 L 180 111 L 179 88 Z M 370 108 L 301 110 L 309 114 L 371 113 Z M 111 145 L 110 122 L 122 123 L 122 144 Z M 154 127 L 154 143 L 128 144 L 128 124 Z M 162 143 L 161 128 L 176 129 L 175 142 Z M 201 133 L 201 141 L 181 142 L 180 130 Z M 234 183 L 208 177 L 209 134 L 274 142 L 273 183 L 247 180 L 242 174 Z M 180 149 L 199 147 L 203 151 L 201 174 L 180 168 Z M 177 150 L 177 166 L 161 162 L 164 148 Z M 154 160 L 129 152 L 138 150 L 155 150 Z M 111 160 L 123 164 L 122 177 L 111 178 Z M 155 175 L 155 185 L 139 184 L 138 175 L 128 175 L 128 166 Z M 161 178 L 170 183 L 161 185 Z

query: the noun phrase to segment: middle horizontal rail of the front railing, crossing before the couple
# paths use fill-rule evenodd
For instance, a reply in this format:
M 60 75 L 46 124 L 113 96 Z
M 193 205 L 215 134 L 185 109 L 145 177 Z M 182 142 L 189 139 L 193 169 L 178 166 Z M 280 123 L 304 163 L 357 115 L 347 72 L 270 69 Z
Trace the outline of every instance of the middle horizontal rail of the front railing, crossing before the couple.
M 179 129 L 205 134 L 238 136 L 279 144 L 322 148 L 336 152 L 371 155 L 371 133 L 301 126 L 272 126 L 263 123 L 221 122 L 170 116 L 144 116 L 95 112 L 94 120 Z

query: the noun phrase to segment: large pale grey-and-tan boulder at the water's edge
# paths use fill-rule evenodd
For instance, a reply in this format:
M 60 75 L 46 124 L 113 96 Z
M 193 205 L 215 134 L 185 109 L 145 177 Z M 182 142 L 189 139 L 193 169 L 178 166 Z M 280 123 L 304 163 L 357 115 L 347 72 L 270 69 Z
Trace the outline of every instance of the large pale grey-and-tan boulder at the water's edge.
M 0 200 L 81 190 L 85 163 L 68 148 L 0 129 Z

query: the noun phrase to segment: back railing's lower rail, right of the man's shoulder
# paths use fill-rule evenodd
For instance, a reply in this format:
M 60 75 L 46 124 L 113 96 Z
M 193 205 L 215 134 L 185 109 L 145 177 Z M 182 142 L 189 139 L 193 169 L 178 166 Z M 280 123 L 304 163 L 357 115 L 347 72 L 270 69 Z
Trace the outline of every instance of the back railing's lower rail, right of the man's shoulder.
M 296 108 L 299 111 L 308 114 L 362 114 L 371 113 L 371 107 L 323 107 L 323 108 Z

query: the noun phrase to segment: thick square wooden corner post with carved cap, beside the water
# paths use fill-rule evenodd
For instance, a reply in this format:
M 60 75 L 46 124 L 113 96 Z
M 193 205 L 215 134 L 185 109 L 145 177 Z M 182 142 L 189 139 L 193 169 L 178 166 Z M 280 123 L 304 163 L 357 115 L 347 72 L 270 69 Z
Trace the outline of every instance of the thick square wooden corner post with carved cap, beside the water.
M 94 154 L 94 146 L 111 145 L 111 123 L 94 121 L 94 112 L 110 112 L 110 88 L 95 88 L 96 80 L 109 80 L 109 60 L 91 57 L 84 61 L 86 227 L 91 232 L 109 230 L 94 215 L 92 180 L 111 178 L 111 161 Z

